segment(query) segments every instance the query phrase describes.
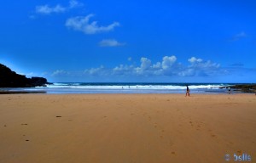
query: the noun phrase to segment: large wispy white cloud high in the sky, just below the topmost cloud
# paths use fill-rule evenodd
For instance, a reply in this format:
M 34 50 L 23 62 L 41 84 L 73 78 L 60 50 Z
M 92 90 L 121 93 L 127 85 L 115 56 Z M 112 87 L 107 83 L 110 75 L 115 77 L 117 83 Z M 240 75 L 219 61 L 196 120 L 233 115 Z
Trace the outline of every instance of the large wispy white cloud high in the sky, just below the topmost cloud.
M 73 18 L 69 18 L 66 21 L 66 26 L 72 28 L 76 31 L 83 31 L 84 34 L 96 34 L 102 32 L 113 31 L 113 29 L 119 26 L 119 22 L 113 22 L 110 25 L 101 26 L 97 25 L 96 21 L 89 22 L 90 18 L 93 17 L 93 14 L 89 14 L 85 17 L 77 16 Z

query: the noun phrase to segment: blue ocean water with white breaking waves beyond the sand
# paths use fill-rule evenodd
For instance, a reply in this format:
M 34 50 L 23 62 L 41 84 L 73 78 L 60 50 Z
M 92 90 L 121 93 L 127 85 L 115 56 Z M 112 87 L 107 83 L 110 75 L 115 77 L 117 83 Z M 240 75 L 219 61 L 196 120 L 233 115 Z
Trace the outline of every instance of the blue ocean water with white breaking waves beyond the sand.
M 13 88 L 9 91 L 45 92 L 49 94 L 65 93 L 228 93 L 220 87 L 235 84 L 228 83 L 112 83 L 112 82 L 55 82 L 47 87 Z

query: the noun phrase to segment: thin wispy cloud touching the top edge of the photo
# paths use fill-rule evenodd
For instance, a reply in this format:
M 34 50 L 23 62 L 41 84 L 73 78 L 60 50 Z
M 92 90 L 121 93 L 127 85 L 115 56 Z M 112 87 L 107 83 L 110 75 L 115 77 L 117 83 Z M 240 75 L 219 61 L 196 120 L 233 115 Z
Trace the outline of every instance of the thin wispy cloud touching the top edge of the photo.
M 40 5 L 36 7 L 36 13 L 38 14 L 53 14 L 53 13 L 65 13 L 69 9 L 83 6 L 83 3 L 79 3 L 76 0 L 69 1 L 69 6 L 63 7 L 61 4 L 57 4 L 54 7 L 50 7 L 48 4 Z

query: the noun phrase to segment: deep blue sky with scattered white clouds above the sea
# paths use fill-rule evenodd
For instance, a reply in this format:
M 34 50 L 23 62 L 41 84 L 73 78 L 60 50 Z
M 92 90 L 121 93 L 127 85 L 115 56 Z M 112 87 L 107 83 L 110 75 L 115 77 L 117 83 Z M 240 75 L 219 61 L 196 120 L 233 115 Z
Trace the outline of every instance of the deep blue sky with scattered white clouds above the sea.
M 49 82 L 256 82 L 255 0 L 0 2 L 0 63 Z

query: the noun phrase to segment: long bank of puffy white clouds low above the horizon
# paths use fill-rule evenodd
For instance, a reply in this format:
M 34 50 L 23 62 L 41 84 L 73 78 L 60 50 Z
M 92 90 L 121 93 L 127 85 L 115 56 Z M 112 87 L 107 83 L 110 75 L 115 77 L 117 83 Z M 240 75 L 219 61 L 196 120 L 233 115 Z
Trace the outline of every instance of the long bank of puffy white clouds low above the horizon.
M 140 65 L 118 65 L 114 68 L 100 66 L 84 70 L 86 76 L 217 76 L 223 74 L 220 65 L 210 60 L 188 59 L 190 65 L 185 66 L 177 63 L 177 57 L 165 56 L 161 61 L 152 63 L 151 59 L 142 57 Z M 54 75 L 67 75 L 63 70 L 56 70 Z

